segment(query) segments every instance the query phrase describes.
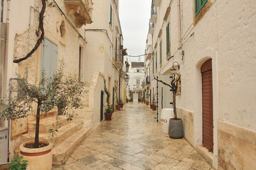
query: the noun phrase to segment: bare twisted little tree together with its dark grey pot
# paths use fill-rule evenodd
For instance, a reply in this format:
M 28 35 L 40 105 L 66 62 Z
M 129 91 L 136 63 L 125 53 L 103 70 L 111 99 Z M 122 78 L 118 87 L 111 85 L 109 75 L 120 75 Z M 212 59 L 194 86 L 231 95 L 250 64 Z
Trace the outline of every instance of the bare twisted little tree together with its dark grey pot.
M 154 79 L 156 78 L 154 77 Z M 174 118 L 171 118 L 169 121 L 169 136 L 172 138 L 183 137 L 183 123 L 181 118 L 177 117 L 177 111 L 176 111 L 176 93 L 178 88 L 178 81 L 180 81 L 180 79 L 181 79 L 181 74 L 178 74 L 178 73 L 172 74 L 171 84 L 167 84 L 162 80 L 156 79 L 156 81 L 159 81 L 162 84 L 169 86 L 173 94 Z

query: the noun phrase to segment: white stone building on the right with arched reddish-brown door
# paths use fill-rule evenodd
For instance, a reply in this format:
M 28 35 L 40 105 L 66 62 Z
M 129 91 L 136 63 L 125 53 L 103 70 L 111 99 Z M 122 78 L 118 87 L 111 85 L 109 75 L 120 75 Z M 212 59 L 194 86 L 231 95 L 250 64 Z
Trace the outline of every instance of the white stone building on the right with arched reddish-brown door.
M 146 53 L 153 47 L 146 57 L 151 93 L 153 77 L 170 82 L 170 69 L 181 74 L 176 106 L 185 138 L 216 169 L 256 167 L 255 6 L 238 0 L 152 1 L 146 41 Z M 171 102 L 171 91 L 159 83 L 159 113 Z

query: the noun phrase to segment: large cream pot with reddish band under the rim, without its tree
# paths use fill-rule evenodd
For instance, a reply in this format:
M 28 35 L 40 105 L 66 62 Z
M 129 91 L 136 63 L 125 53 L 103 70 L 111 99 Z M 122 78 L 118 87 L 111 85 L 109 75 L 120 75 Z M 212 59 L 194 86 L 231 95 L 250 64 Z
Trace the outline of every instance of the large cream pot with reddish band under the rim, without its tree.
M 25 142 L 20 145 L 20 155 L 23 160 L 28 161 L 28 166 L 31 170 L 50 170 L 53 164 L 53 145 L 50 142 L 40 141 L 47 146 L 41 148 L 26 148 L 26 144 L 33 144 L 34 142 Z

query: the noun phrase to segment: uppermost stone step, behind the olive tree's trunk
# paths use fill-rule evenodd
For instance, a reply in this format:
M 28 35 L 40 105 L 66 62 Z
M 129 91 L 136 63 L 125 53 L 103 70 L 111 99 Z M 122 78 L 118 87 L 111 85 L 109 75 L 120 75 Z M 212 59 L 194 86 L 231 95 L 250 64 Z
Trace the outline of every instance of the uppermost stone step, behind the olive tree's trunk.
M 53 129 L 56 125 L 67 125 L 70 121 L 67 121 L 66 115 L 59 115 L 58 117 L 48 117 L 40 120 L 39 132 L 47 133 L 48 130 Z M 57 123 L 58 122 L 58 123 Z M 57 123 L 57 124 L 56 124 Z M 36 120 L 31 120 L 28 122 L 28 132 L 35 132 L 36 130 Z

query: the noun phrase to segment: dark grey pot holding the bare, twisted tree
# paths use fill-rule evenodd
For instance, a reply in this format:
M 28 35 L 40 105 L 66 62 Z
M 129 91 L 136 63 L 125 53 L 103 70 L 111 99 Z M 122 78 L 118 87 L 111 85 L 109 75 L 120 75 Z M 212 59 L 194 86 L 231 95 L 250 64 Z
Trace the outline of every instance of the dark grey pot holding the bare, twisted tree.
M 183 137 L 183 123 L 181 119 L 169 120 L 169 137 L 179 139 Z

